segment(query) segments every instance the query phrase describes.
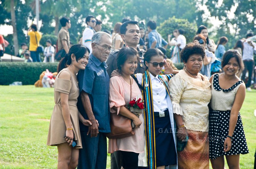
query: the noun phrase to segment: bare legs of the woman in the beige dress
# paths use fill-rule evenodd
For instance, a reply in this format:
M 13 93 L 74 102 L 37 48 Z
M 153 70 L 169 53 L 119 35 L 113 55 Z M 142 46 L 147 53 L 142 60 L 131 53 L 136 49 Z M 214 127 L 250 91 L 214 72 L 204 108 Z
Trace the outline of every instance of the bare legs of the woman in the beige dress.
M 58 169 L 75 169 L 78 164 L 79 149 L 68 143 L 58 144 Z

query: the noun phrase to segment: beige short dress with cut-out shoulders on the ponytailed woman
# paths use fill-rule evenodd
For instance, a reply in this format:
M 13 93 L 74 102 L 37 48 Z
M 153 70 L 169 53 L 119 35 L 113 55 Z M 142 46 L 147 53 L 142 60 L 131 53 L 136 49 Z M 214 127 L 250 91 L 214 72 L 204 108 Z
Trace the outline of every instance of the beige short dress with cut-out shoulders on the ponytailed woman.
M 58 78 L 59 74 L 62 71 L 68 71 L 71 75 L 71 80 Z M 76 148 L 82 148 L 78 121 L 78 109 L 76 107 L 77 98 L 79 96 L 78 82 L 76 77 L 73 77 L 72 73 L 67 68 L 62 69 L 60 73 L 57 75 L 54 84 L 55 106 L 52 111 L 47 145 L 58 145 L 67 142 L 64 138 L 64 136 L 66 135 L 67 128 L 62 116 L 60 102 L 60 93 L 65 93 L 68 94 L 68 105 L 72 123 L 72 130 L 74 133 L 74 140 L 76 141 Z

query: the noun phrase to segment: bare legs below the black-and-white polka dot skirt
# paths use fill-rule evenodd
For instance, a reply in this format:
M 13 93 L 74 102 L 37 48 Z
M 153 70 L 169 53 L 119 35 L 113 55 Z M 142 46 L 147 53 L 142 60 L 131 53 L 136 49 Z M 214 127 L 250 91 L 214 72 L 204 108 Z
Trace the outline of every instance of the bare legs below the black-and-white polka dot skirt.
M 230 169 L 240 169 L 239 166 L 239 157 L 240 154 L 237 155 L 228 155 L 225 156 L 227 163 L 228 163 L 228 168 Z M 211 164 L 213 169 L 224 169 L 224 156 L 220 156 L 216 159 L 211 159 Z

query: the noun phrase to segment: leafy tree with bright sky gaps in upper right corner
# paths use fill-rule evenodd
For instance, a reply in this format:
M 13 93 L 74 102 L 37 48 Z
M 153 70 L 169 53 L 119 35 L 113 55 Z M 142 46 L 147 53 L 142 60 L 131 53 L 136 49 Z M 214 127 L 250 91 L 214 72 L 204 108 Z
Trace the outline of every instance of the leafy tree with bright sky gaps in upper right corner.
M 255 0 L 209 0 L 205 3 L 211 16 L 220 20 L 217 27 L 215 42 L 221 36 L 229 39 L 228 49 L 232 48 L 238 39 L 245 37 L 248 31 L 256 31 L 256 1 Z M 234 14 L 234 15 L 233 15 Z

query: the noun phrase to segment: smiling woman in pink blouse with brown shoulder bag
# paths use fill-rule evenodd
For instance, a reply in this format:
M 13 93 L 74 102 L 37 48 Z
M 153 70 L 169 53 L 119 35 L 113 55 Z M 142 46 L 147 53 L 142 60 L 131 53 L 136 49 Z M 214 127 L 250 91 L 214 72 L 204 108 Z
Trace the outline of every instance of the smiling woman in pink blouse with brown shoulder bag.
M 120 151 L 122 154 L 123 168 L 137 169 L 139 153 L 144 152 L 144 119 L 139 118 L 127 109 L 131 99 L 142 98 L 140 88 L 131 74 L 137 68 L 138 52 L 132 47 L 124 47 L 117 54 L 117 68 L 121 76 L 110 79 L 109 104 L 110 112 L 117 113 L 133 120 L 136 128 L 131 137 L 109 139 L 108 153 Z M 132 92 L 132 93 L 131 93 Z M 130 98 L 131 97 L 131 98 Z

